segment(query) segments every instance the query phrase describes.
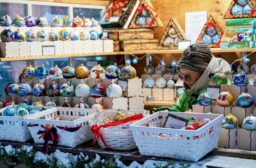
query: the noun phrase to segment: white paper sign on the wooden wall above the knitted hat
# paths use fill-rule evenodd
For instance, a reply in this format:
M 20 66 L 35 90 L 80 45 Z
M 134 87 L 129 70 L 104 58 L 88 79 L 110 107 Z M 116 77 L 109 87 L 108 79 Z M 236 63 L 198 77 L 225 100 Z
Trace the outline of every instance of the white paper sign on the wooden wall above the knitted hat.
M 207 11 L 185 13 L 185 34 L 194 44 L 207 22 Z

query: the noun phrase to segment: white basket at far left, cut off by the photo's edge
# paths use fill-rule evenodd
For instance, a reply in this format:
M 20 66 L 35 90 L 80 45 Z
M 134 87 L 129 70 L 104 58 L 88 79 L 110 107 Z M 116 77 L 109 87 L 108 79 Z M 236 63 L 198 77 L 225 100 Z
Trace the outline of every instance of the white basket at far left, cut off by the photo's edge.
M 32 139 L 31 134 L 28 130 L 27 124 L 24 122 L 24 118 L 35 115 L 30 114 L 24 117 L 16 116 L 2 116 L 5 109 L 9 107 L 16 108 L 18 105 L 7 106 L 0 109 L 0 140 L 16 141 L 16 142 L 27 142 Z M 42 106 L 30 106 L 33 110 L 50 109 L 54 107 L 42 107 Z M 40 112 L 38 112 L 40 113 Z

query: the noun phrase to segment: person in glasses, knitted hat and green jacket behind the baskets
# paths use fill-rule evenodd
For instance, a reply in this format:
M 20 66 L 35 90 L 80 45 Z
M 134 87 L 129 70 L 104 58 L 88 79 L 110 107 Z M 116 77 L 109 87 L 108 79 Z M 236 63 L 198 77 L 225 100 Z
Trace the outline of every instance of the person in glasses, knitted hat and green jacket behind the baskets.
M 196 42 L 184 52 L 176 66 L 179 77 L 183 81 L 182 96 L 172 107 L 163 106 L 157 111 L 185 112 L 197 104 L 197 97 L 206 92 L 206 86 L 216 73 L 230 75 L 229 63 L 212 55 L 207 44 Z

